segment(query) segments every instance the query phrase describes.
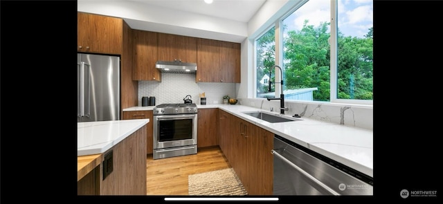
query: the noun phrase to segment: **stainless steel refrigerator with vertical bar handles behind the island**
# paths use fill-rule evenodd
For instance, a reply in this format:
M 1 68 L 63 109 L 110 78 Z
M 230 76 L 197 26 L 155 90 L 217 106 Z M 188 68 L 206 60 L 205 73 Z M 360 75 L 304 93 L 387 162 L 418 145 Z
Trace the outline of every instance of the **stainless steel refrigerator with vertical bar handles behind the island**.
M 120 120 L 120 57 L 77 54 L 77 122 Z

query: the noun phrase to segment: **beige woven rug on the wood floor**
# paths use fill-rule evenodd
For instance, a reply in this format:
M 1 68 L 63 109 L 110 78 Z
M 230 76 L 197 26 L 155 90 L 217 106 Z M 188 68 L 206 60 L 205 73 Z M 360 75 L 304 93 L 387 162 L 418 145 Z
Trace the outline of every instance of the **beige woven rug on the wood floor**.
M 232 168 L 188 176 L 188 194 L 246 196 L 248 193 Z

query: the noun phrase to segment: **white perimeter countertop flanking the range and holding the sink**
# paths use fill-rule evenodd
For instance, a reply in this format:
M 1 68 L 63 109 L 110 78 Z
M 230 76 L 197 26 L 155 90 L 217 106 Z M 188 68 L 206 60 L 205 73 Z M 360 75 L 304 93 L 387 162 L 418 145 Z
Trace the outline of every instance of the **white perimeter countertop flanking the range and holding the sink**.
M 136 106 L 123 111 L 147 111 L 152 110 L 154 106 Z M 309 118 L 298 118 L 299 121 L 293 122 L 266 122 L 250 115 L 242 113 L 243 111 L 263 111 L 280 115 L 278 112 L 265 111 L 251 106 L 243 105 L 225 105 L 210 104 L 199 105 L 198 109 L 219 108 L 228 113 L 236 115 L 243 120 L 251 122 L 258 127 L 271 131 L 283 138 L 287 138 L 298 145 L 307 147 L 318 154 L 327 156 L 343 165 L 347 165 L 363 174 L 372 177 L 373 171 L 373 131 L 358 127 L 347 127 L 343 124 L 324 122 Z M 291 115 L 287 115 L 291 117 Z

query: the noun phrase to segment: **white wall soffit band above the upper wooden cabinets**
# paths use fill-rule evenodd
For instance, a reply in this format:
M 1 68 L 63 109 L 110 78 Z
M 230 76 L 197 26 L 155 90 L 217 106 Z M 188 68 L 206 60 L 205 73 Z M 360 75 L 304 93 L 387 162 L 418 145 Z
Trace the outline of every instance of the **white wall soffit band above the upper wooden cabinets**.
M 123 18 L 129 27 L 137 30 L 238 43 L 248 36 L 246 23 L 179 10 L 166 10 L 158 6 L 146 7 L 135 1 L 79 0 L 77 10 Z

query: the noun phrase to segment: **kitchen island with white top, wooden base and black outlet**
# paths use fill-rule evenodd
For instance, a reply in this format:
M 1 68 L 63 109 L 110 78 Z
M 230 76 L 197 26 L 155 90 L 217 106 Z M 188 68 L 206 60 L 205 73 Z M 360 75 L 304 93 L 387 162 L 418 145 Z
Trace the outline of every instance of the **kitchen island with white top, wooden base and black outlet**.
M 146 194 L 149 119 L 78 123 L 78 194 Z

